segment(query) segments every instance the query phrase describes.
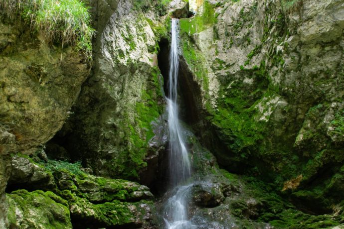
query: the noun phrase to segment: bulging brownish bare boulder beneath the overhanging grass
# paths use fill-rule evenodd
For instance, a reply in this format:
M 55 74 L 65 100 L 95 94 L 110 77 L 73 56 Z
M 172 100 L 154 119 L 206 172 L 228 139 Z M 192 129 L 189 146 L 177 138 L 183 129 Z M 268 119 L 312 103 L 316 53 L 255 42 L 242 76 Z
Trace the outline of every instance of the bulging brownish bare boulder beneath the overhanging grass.
M 90 62 L 0 18 L 0 154 L 32 153 L 62 127 Z

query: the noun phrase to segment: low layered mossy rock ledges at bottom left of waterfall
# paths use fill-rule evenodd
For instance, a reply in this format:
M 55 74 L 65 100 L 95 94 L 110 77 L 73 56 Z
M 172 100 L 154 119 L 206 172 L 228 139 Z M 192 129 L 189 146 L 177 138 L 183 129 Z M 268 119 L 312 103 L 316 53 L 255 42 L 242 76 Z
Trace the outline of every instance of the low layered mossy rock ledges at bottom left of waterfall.
M 154 196 L 147 186 L 89 175 L 68 162 L 37 163 L 26 155 L 13 156 L 11 164 L 9 193 L 1 203 L 3 228 L 155 227 Z

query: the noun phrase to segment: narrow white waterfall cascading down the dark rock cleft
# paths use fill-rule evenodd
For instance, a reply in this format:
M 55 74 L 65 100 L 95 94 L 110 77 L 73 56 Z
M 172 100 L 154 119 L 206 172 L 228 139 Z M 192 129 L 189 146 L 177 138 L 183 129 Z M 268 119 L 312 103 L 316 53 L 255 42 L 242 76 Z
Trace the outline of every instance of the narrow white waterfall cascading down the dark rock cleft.
M 172 195 L 166 203 L 164 220 L 167 229 L 191 229 L 194 226 L 187 216 L 187 197 L 192 184 L 185 184 L 191 176 L 191 165 L 188 152 L 185 146 L 183 129 L 178 118 L 177 105 L 177 81 L 178 81 L 178 19 L 172 18 L 172 42 L 170 51 L 170 72 L 168 89 L 169 94 L 166 98 L 167 113 L 169 122 L 169 150 L 170 150 L 170 183 L 174 188 Z

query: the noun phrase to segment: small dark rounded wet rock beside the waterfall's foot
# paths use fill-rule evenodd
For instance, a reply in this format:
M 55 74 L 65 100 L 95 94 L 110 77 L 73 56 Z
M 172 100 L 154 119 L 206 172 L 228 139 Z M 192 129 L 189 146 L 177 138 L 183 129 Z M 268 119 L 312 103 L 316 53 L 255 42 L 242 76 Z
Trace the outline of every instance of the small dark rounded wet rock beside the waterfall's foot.
M 211 208 L 218 206 L 225 197 L 219 185 L 200 182 L 192 187 L 192 198 L 196 205 Z

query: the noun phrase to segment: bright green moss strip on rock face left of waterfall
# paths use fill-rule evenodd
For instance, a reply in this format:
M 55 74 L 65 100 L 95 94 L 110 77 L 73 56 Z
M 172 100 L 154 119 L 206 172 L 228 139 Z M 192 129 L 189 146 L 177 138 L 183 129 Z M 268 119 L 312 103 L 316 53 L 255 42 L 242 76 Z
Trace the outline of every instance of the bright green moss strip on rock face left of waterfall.
M 154 136 L 152 121 L 164 112 L 164 106 L 161 103 L 163 94 L 160 76 L 160 70 L 152 68 L 150 81 L 145 85 L 140 99 L 132 108 L 135 111 L 134 120 L 126 118 L 120 126 L 124 130 L 124 138 L 128 144 L 127 150 L 119 152 L 116 159 L 106 161 L 105 166 L 112 171 L 112 174 L 117 174 L 121 178 L 138 179 L 138 171 L 147 166 L 144 159 L 147 155 L 148 142 Z

